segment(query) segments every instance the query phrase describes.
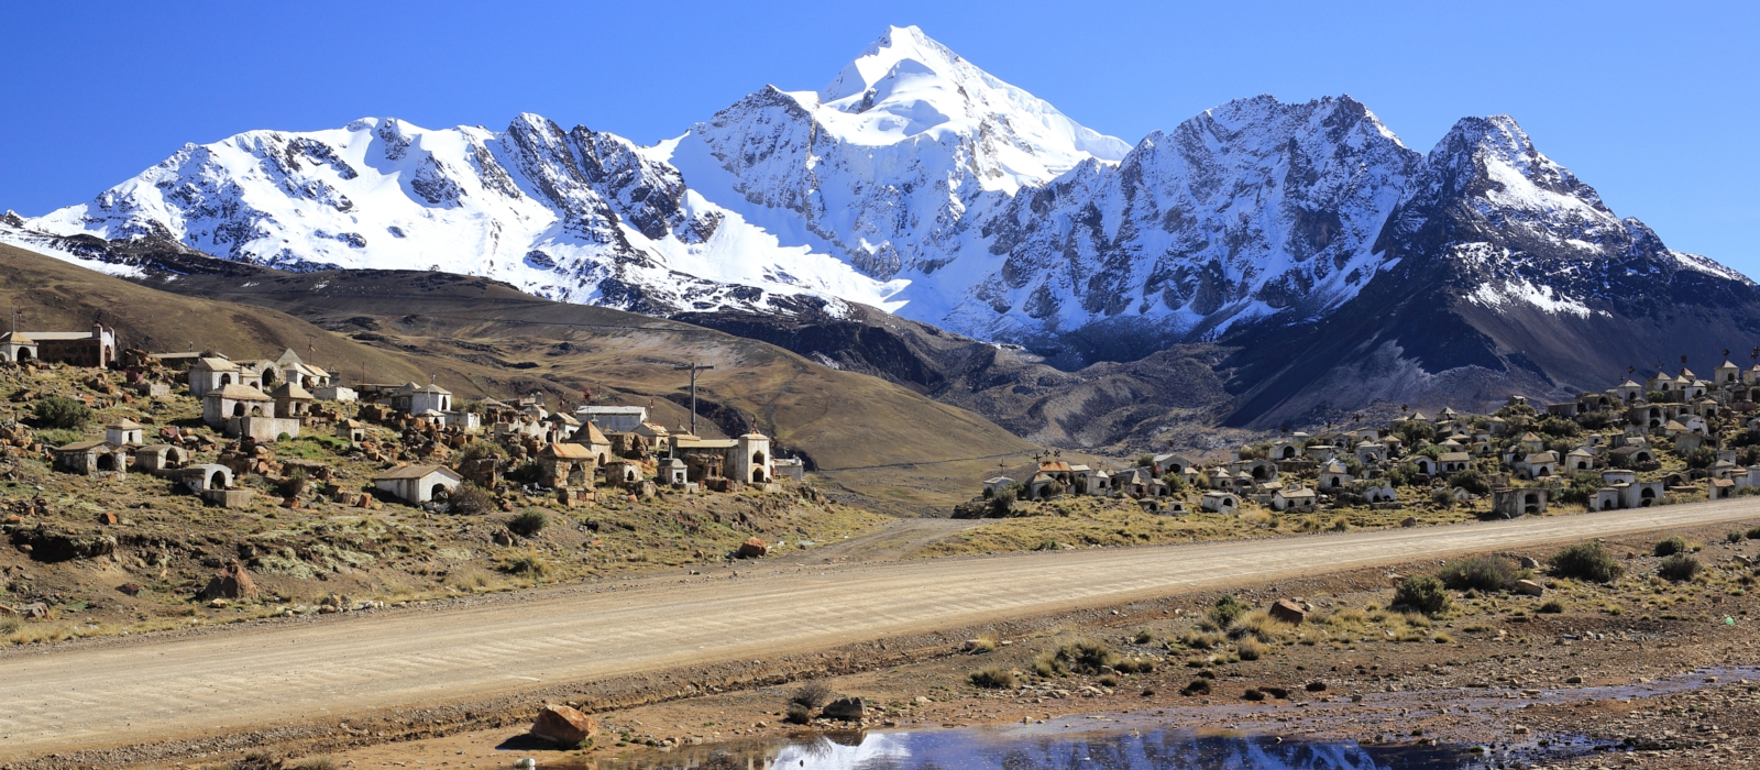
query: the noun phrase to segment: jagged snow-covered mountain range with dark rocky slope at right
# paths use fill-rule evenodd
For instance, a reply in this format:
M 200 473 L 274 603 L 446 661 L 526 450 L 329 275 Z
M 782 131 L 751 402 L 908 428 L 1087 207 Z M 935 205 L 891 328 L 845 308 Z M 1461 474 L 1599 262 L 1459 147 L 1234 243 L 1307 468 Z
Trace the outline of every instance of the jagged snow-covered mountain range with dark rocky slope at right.
M 1329 376 L 1360 399 L 1484 373 L 1540 396 L 1681 339 L 1734 346 L 1674 308 L 1760 329 L 1751 281 L 1616 216 L 1508 116 L 1426 155 L 1350 97 L 1253 97 L 1128 146 L 913 26 L 817 91 L 767 86 L 655 146 L 535 114 L 257 130 L 0 236 L 468 272 L 748 331 L 855 323 L 859 302 L 1063 369 L 1221 341 L 1243 350 L 1239 420 L 1325 411 Z

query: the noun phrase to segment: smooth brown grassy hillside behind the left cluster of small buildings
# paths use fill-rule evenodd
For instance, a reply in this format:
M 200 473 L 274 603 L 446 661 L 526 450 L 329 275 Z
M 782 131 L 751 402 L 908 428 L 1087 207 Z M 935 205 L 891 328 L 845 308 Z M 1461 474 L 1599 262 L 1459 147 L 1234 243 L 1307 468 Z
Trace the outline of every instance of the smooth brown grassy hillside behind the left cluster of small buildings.
M 461 396 L 546 392 L 551 404 L 577 404 L 581 390 L 591 390 L 595 403 L 653 401 L 669 427 L 690 418 L 686 380 L 672 364 L 715 364 L 699 380 L 699 432 L 764 431 L 822 469 L 1031 450 L 956 406 L 688 323 L 551 302 L 444 272 L 264 269 L 239 276 L 243 265 L 231 267 L 227 276 L 137 285 L 4 248 L 0 297 L 23 308 L 32 329 L 79 329 L 102 316 L 125 346 L 185 350 L 195 341 L 234 357 L 289 346 L 304 353 L 310 339 L 312 362 L 347 381 L 431 374 Z

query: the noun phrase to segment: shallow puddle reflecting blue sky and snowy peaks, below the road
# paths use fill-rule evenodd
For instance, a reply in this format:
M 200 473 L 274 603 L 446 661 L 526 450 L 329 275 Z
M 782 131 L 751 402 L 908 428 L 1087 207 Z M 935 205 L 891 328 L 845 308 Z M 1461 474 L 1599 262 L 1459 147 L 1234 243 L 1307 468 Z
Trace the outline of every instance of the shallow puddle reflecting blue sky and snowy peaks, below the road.
M 1404 770 L 1478 768 L 1448 745 L 1359 745 L 1195 730 L 942 730 L 806 737 L 604 759 L 600 770 Z

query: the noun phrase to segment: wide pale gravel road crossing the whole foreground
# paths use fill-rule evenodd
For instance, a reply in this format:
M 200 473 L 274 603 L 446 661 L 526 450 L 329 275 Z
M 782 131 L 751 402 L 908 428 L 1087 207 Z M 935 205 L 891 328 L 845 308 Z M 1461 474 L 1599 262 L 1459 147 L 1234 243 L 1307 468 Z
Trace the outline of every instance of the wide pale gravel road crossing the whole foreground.
M 855 566 L 340 617 L 0 659 L 0 759 L 769 656 L 1461 552 L 1760 519 L 1760 499 L 1496 524 Z

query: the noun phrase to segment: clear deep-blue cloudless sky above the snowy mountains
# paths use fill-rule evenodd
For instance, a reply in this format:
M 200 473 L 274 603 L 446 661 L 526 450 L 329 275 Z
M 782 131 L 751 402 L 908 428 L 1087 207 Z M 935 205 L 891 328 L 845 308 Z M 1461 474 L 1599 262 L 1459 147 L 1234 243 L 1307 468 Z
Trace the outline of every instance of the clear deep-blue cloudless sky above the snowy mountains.
M 1755 2 L 9 4 L 0 209 L 88 200 L 183 142 L 361 116 L 530 111 L 651 142 L 766 83 L 818 88 L 887 25 L 1130 142 L 1257 93 L 1350 93 L 1424 151 L 1508 113 L 1621 216 L 1760 276 Z

